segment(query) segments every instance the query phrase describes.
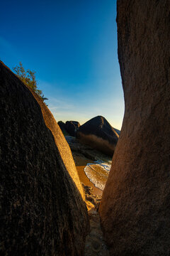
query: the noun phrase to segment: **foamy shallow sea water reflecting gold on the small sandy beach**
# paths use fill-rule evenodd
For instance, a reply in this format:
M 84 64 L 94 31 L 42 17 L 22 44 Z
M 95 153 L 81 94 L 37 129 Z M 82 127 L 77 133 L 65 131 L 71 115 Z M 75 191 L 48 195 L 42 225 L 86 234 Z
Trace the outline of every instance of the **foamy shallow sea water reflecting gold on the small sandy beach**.
M 94 186 L 96 186 L 96 188 L 100 188 L 103 191 L 108 179 L 110 169 L 111 161 L 108 163 L 103 161 L 96 161 L 94 164 L 87 164 L 84 168 L 84 172 L 89 180 L 94 183 Z

